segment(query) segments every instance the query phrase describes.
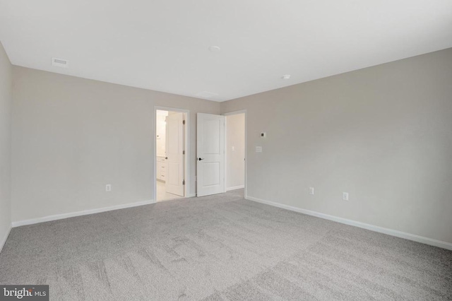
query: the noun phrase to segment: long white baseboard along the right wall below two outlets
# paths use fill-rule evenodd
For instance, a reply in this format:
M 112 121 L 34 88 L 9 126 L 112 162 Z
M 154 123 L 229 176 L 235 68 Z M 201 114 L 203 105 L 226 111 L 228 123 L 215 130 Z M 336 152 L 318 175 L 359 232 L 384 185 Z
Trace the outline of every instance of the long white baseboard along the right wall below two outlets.
M 302 209 L 302 208 L 297 208 L 297 207 L 293 207 L 293 206 L 289 206 L 289 205 L 284 205 L 282 203 L 275 203 L 273 201 L 266 201 L 263 199 L 258 199 L 255 198 L 253 196 L 246 196 L 247 200 L 250 201 L 256 201 L 258 203 L 265 203 L 267 205 L 270 206 L 275 206 L 278 208 L 283 208 L 283 209 L 287 209 L 290 211 L 296 211 L 299 213 L 304 213 L 307 214 L 308 216 L 316 216 L 317 218 L 324 218 L 326 220 L 333 220 L 335 222 L 338 223 L 343 223 L 345 225 L 352 225 L 358 228 L 364 228 L 367 230 L 371 230 L 374 232 L 380 232 L 380 233 L 384 233 L 387 235 L 392 235 L 392 236 L 396 236 L 396 237 L 400 237 L 400 238 L 405 238 L 405 240 L 412 240 L 415 242 L 422 242 L 423 244 L 429 244 L 435 247 L 440 247 L 440 248 L 444 248 L 444 249 L 449 249 L 452 250 L 452 243 L 450 242 L 442 242 L 441 240 L 433 240 L 432 238 L 428 238 L 428 237 L 423 237 L 423 236 L 419 236 L 419 235 L 414 235 L 414 234 L 410 234 L 410 233 L 406 233 L 406 232 L 401 232 L 398 230 L 392 230 L 392 229 L 388 229 L 388 228 L 383 228 L 383 227 L 379 227 L 376 225 L 370 225 L 367 223 L 361 223 L 361 222 L 357 222 L 355 220 L 348 220 L 347 218 L 339 218 L 337 216 L 329 216 L 328 214 L 324 214 L 324 213 L 319 213 L 316 211 L 310 211 L 307 209 Z

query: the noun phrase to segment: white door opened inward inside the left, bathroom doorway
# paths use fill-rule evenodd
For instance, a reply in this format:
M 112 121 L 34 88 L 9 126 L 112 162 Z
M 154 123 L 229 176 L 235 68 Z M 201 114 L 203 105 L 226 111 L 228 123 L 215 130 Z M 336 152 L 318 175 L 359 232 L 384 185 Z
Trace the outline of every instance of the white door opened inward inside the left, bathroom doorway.
M 184 113 L 166 118 L 166 191 L 184 196 Z

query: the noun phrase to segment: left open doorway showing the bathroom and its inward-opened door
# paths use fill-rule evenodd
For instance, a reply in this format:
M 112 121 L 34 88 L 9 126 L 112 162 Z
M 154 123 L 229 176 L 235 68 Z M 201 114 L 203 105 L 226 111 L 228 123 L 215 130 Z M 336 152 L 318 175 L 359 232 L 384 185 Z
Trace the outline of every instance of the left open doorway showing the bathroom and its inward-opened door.
M 186 196 L 187 112 L 155 108 L 155 200 Z

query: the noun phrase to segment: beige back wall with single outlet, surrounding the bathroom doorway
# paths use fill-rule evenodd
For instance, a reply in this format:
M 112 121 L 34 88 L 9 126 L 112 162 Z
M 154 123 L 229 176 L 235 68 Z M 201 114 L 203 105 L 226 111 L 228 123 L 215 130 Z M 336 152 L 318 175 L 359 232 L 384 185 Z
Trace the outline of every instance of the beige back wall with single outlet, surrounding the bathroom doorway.
M 13 222 L 153 199 L 154 106 L 190 110 L 195 193 L 196 113 L 220 103 L 18 66 L 13 81 Z

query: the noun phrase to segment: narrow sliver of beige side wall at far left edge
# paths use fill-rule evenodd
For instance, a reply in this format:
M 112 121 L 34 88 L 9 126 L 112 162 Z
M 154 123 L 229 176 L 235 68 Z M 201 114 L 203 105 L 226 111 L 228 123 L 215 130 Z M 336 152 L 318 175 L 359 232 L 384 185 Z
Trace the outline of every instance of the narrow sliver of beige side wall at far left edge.
M 0 42 L 0 250 L 11 229 L 12 66 Z

